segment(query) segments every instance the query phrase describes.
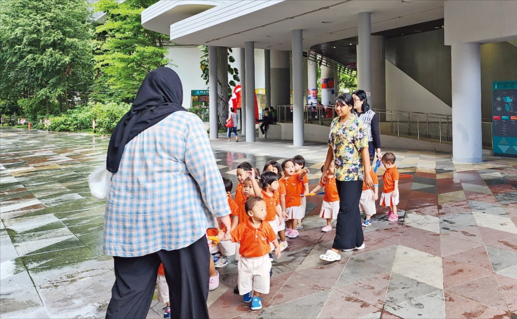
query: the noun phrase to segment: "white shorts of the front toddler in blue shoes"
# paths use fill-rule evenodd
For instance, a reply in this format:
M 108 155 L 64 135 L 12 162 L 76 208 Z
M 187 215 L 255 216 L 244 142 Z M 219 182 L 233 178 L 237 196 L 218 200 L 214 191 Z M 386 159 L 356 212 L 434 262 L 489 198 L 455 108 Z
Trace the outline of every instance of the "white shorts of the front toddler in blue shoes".
M 269 270 L 271 261 L 266 254 L 261 257 L 241 257 L 237 263 L 239 295 L 250 291 L 269 293 Z

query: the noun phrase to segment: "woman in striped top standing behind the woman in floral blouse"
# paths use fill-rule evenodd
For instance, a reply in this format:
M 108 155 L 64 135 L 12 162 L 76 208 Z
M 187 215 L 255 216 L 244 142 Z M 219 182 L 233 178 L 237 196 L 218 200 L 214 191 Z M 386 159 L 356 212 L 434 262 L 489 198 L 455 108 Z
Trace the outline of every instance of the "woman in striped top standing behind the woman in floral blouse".
M 357 112 L 359 119 L 366 127 L 368 134 L 368 153 L 370 154 L 370 164 L 373 163 L 375 156 L 381 161 L 381 132 L 379 131 L 379 118 L 377 114 L 370 108 L 368 97 L 363 90 L 355 90 L 352 93 L 354 98 L 354 110 Z

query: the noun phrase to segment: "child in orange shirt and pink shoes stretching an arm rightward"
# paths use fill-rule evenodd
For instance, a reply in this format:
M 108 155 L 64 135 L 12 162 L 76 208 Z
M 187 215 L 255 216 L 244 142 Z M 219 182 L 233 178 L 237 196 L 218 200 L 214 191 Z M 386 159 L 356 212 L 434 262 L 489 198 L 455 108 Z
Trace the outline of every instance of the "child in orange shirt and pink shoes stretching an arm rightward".
M 285 160 L 282 162 L 282 170 L 285 176 L 280 180 L 285 186 L 285 211 L 288 215 L 285 224 L 285 235 L 289 238 L 296 238 L 299 235 L 296 230 L 298 221 L 305 217 L 305 211 L 302 211 L 300 194 L 303 192 L 303 177 L 309 172 L 309 169 L 302 170 L 300 173 L 295 172 L 294 162 Z

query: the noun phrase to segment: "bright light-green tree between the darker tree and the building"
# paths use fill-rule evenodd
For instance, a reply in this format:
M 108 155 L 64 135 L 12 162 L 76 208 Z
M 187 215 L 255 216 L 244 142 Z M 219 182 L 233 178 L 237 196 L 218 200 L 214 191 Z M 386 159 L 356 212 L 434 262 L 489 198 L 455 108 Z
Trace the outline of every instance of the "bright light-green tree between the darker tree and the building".
M 96 11 L 106 13 L 96 27 L 95 100 L 130 101 L 149 71 L 169 61 L 165 35 L 141 25 L 142 11 L 157 0 L 100 0 Z

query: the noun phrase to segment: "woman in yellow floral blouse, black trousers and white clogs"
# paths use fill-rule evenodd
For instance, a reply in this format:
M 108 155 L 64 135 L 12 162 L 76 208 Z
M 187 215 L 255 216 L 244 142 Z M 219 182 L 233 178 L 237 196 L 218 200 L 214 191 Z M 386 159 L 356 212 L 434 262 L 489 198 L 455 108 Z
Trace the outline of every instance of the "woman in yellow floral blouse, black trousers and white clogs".
M 339 214 L 332 249 L 320 256 L 324 261 L 340 260 L 340 250 L 364 248 L 359 212 L 363 179 L 368 187 L 373 186 L 370 174 L 364 174 L 365 171 L 370 171 L 368 136 L 364 124 L 355 114 L 351 94 L 338 95 L 336 113 L 338 117 L 330 124 L 327 158 L 323 171 L 327 171 L 333 160 L 339 193 Z M 323 174 L 322 184 L 326 179 L 327 174 Z

